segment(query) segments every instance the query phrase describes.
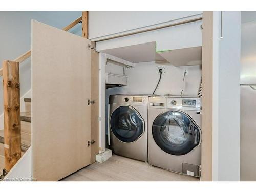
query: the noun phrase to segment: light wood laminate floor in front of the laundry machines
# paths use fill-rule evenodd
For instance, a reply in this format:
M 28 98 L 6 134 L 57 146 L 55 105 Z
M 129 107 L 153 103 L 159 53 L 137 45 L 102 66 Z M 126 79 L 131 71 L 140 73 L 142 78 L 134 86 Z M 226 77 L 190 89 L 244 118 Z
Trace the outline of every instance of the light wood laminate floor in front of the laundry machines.
M 61 181 L 199 181 L 199 178 L 113 155 L 104 163 L 95 162 Z

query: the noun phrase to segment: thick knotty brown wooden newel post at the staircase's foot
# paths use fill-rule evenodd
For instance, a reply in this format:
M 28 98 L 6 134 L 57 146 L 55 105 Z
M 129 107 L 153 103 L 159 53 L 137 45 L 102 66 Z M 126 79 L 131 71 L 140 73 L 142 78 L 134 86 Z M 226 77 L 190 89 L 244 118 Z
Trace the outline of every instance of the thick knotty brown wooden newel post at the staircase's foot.
M 20 159 L 19 62 L 3 61 L 5 170 L 9 172 Z

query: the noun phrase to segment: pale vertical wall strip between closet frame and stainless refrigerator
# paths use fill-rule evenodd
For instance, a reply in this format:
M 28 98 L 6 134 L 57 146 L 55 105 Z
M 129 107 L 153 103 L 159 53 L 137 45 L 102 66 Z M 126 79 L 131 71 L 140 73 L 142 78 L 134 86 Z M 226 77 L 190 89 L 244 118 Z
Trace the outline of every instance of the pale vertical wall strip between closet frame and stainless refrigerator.
M 223 11 L 219 39 L 218 181 L 240 180 L 240 11 Z M 219 18 L 221 19 L 221 17 Z M 220 26 L 221 27 L 221 26 Z

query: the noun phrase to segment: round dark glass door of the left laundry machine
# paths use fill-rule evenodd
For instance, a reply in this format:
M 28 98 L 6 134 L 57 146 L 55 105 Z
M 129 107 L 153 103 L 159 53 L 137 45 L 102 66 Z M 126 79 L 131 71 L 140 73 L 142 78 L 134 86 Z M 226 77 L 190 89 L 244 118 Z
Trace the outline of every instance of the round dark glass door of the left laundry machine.
M 110 127 L 122 142 L 136 141 L 144 132 L 144 120 L 131 106 L 120 106 L 111 115 Z

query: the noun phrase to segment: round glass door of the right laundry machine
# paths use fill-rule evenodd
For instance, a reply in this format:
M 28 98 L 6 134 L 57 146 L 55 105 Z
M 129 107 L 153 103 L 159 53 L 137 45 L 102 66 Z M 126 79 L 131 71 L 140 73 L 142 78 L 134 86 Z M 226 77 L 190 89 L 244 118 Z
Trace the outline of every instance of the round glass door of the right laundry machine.
M 157 116 L 152 126 L 157 145 L 166 153 L 185 155 L 195 148 L 201 131 L 195 122 L 181 111 L 167 111 Z

